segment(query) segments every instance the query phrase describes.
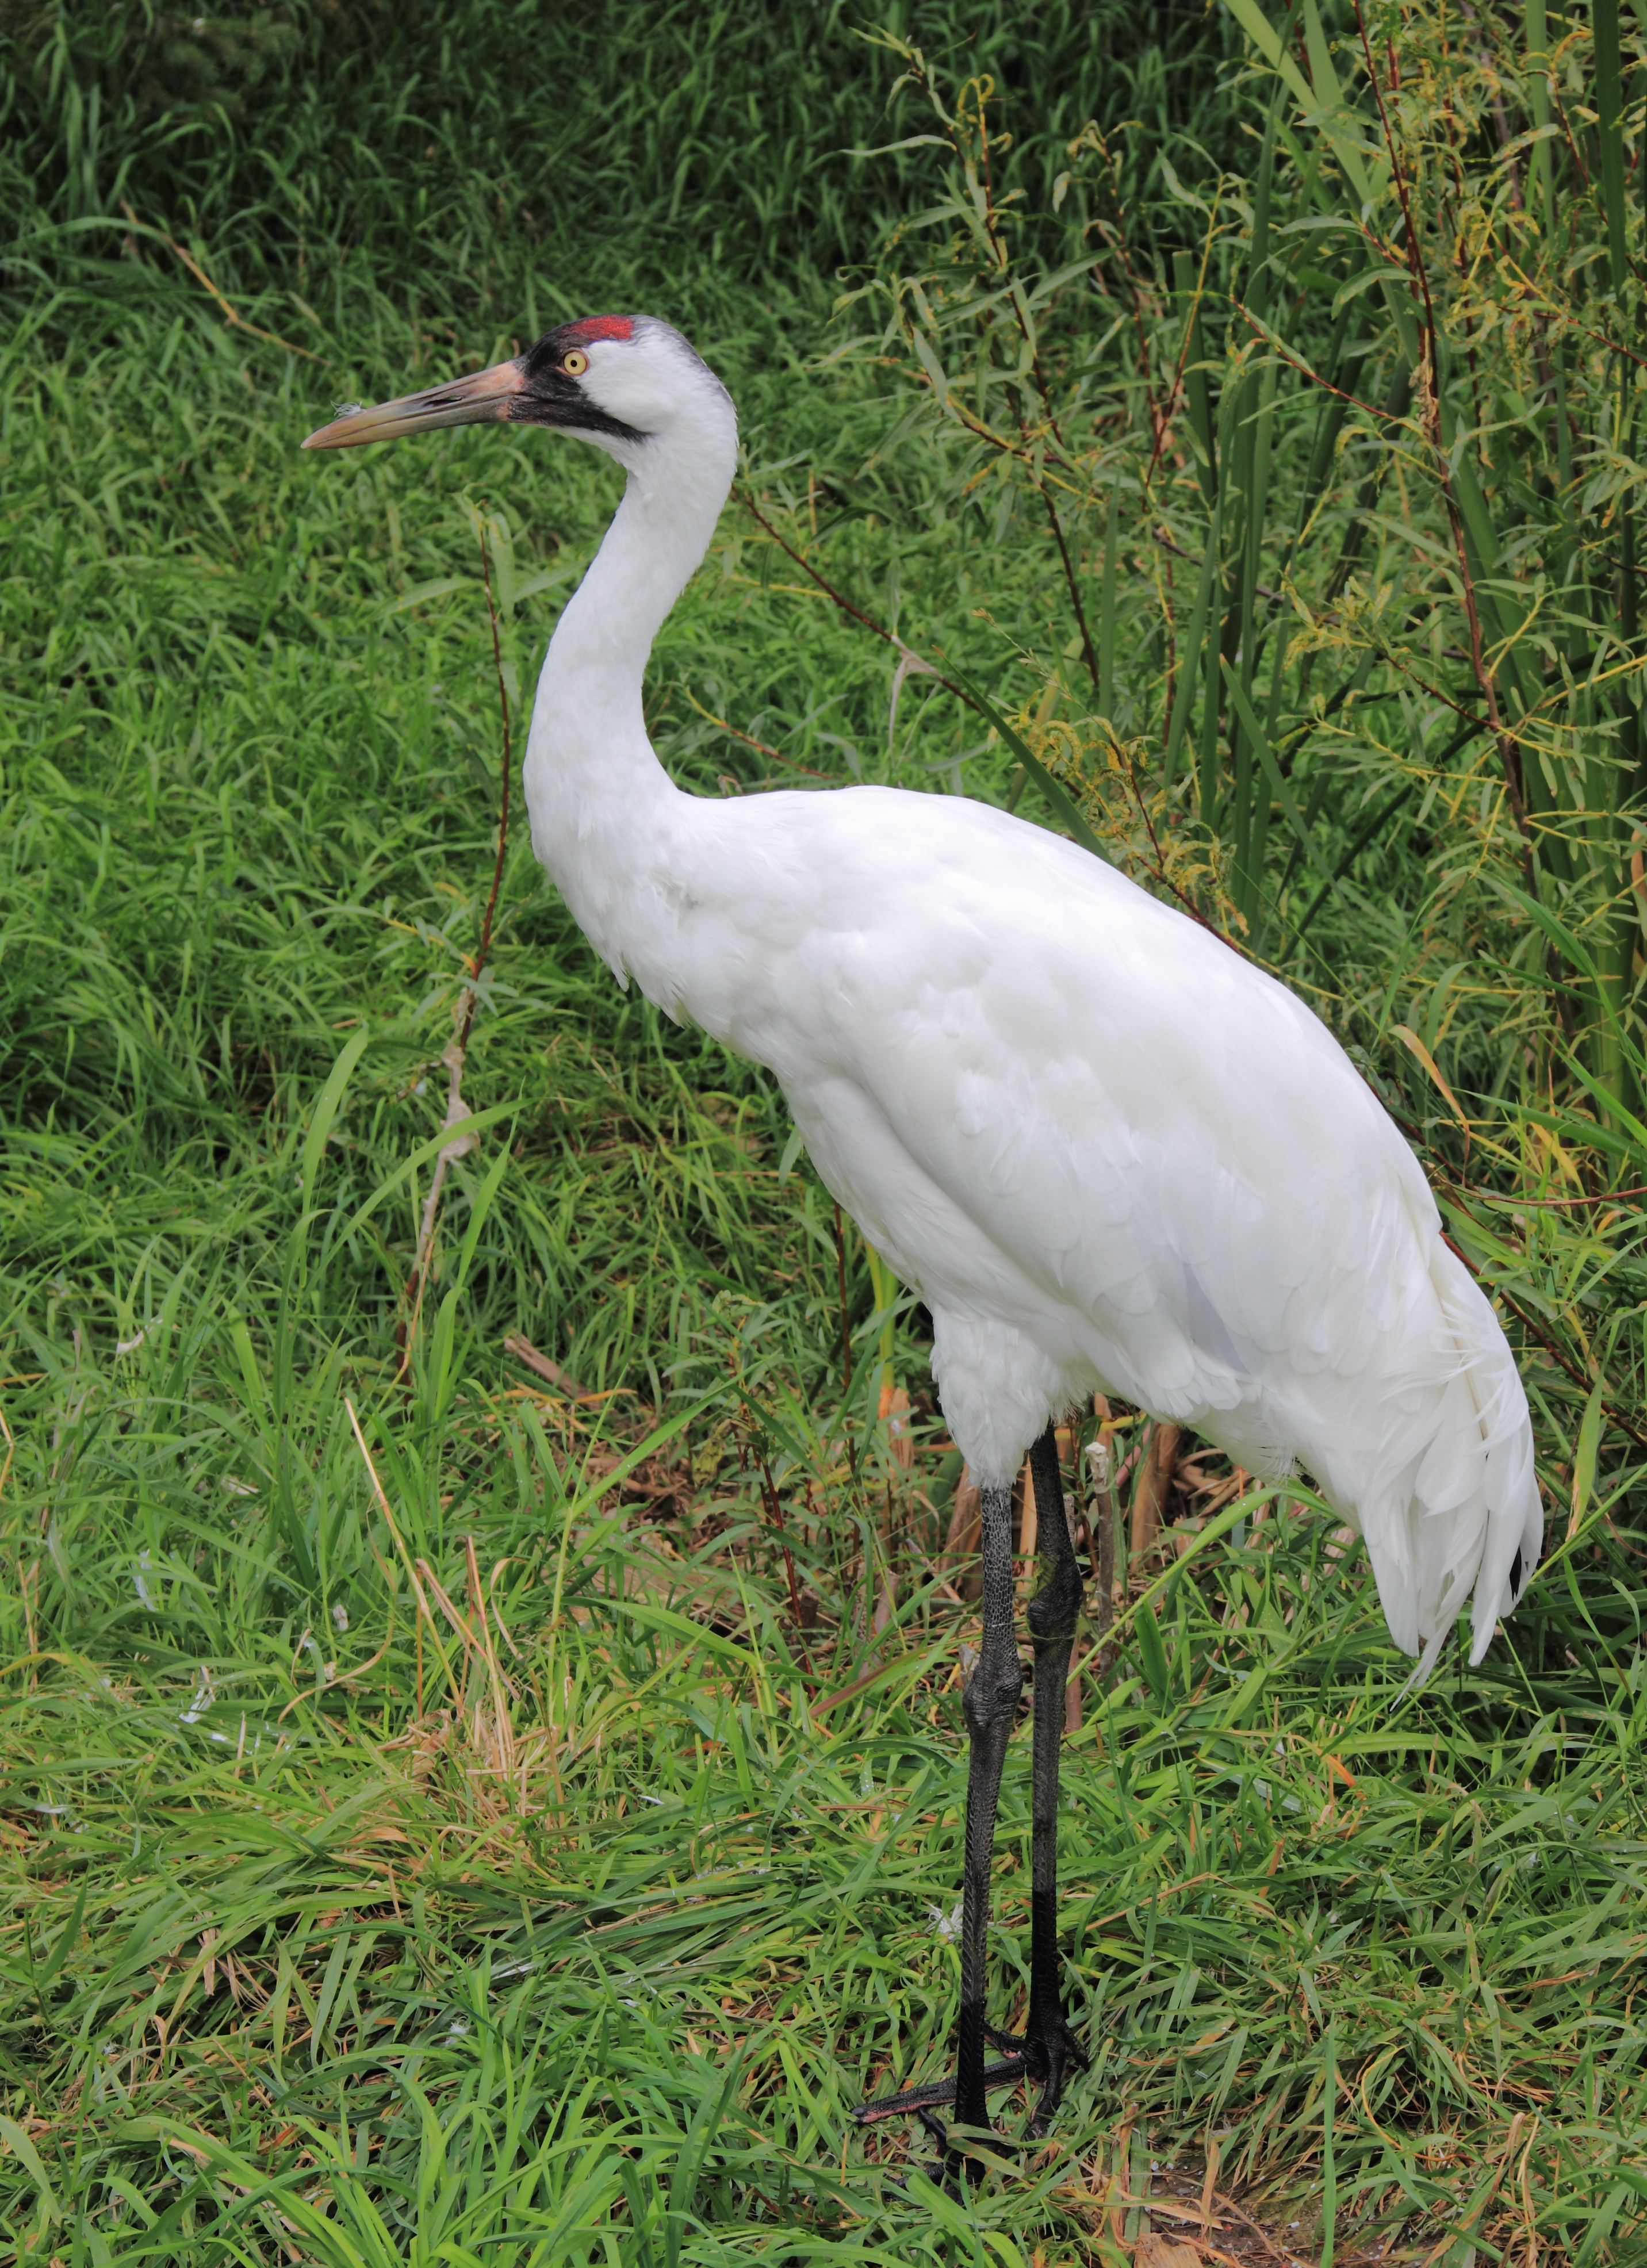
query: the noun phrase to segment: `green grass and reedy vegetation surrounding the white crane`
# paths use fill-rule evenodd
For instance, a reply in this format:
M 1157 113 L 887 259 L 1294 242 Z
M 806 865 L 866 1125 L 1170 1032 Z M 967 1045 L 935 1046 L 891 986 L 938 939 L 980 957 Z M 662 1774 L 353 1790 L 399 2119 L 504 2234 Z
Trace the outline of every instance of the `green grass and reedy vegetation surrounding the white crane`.
M 0 0 L 16 2257 L 1640 2257 L 1640 64 L 1615 0 Z M 1091 2068 L 966 2202 L 846 2116 L 955 1991 L 923 1318 L 520 828 L 476 978 L 481 558 L 520 726 L 610 467 L 295 449 L 615 306 L 746 447 L 676 778 L 1014 803 L 1221 925 L 1536 1413 L 1547 1563 L 1422 1694 L 1309 1490 L 1109 1413 L 1171 1538 L 1069 1742 Z M 1000 2019 L 1025 1912 L 1014 1753 Z

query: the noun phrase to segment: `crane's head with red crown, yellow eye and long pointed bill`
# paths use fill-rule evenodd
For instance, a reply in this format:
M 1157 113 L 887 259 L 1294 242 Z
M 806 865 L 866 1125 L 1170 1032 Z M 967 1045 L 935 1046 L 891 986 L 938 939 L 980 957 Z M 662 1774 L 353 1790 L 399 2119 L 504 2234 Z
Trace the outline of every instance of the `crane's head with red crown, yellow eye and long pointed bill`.
M 674 429 L 710 424 L 735 433 L 726 388 L 676 329 L 656 315 L 585 315 L 547 331 L 510 363 L 345 411 L 304 449 L 358 449 L 445 424 L 565 426 L 631 469 Z

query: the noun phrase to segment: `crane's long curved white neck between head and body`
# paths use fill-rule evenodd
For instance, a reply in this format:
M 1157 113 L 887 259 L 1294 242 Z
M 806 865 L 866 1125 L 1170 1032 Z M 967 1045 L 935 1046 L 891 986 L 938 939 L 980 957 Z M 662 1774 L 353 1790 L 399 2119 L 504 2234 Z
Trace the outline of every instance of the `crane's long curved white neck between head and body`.
M 667 864 L 681 805 L 692 805 L 647 737 L 647 655 L 708 551 L 733 454 L 730 404 L 719 420 L 653 435 L 635 451 L 624 501 L 538 678 L 524 767 L 533 848 L 578 928 L 619 971 L 640 966 L 633 930 L 649 912 L 647 873 Z

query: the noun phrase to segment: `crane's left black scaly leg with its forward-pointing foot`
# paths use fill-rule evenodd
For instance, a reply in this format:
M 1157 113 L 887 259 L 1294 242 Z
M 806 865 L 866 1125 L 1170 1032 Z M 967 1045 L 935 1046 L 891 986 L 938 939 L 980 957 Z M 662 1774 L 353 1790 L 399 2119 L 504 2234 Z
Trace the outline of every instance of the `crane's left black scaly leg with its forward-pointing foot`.
M 1037 1497 L 1039 1510 L 1039 1497 Z M 1064 1504 L 1059 1497 L 1059 1520 Z M 989 2132 L 987 2089 L 1023 2077 L 1025 2050 L 1014 2041 L 1016 2053 L 1003 2062 L 985 2064 L 985 1989 L 987 1989 L 987 1937 L 989 1937 L 989 1857 L 996 1839 L 996 1799 L 1000 1794 L 1000 1767 L 1012 1740 L 1023 1692 L 1023 1667 L 1019 1665 L 1019 1642 L 1012 1633 L 1012 1490 L 985 1488 L 982 1492 L 982 1590 L 985 1590 L 985 1642 L 978 1667 L 966 1681 L 962 1710 L 971 1755 L 966 1762 L 966 1871 L 962 1880 L 962 2003 L 955 2025 L 955 2077 L 935 2080 L 928 2087 L 907 2087 L 903 2093 L 885 2096 L 880 2102 L 864 2102 L 853 2114 L 860 2123 L 896 2118 L 914 2112 L 926 2125 L 939 2102 L 955 2105 L 955 2123 Z M 1059 1687 L 1062 1694 L 1062 1687 Z M 948 2146 L 948 2168 L 957 2170 L 960 2152 Z

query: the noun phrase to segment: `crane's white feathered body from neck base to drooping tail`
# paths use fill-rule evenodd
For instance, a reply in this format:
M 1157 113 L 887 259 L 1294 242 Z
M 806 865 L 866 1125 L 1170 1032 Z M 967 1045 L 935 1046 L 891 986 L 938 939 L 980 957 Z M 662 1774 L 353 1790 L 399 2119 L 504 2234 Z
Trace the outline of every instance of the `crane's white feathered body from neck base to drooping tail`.
M 660 996 L 778 1073 L 932 1309 L 973 1463 L 1016 1470 L 1103 1383 L 1250 1470 L 1307 1465 L 1366 1533 L 1397 1644 L 1434 1653 L 1475 1588 L 1479 1658 L 1543 1535 L 1527 1402 L 1327 1027 L 987 805 L 687 810 Z

